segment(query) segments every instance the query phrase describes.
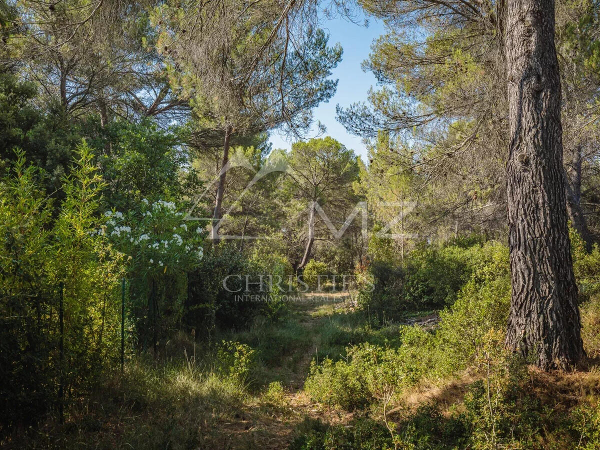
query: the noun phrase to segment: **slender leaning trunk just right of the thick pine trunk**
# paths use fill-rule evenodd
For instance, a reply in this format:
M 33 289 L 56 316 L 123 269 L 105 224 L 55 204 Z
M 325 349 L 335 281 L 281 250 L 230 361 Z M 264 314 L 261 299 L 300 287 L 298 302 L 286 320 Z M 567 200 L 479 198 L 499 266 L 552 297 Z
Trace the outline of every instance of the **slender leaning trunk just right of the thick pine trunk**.
M 583 145 L 577 145 L 572 150 L 571 161 L 566 169 L 566 211 L 569 221 L 581 235 L 586 244 L 586 250 L 592 249 L 592 237 L 587 228 L 586 217 L 581 208 L 581 162 L 583 160 Z

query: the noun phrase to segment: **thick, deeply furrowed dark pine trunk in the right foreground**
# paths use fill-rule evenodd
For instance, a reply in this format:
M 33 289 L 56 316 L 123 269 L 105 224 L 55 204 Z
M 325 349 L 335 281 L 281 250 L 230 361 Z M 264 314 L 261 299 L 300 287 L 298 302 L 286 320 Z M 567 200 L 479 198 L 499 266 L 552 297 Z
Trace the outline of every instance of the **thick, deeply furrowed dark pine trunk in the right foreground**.
M 554 1 L 508 0 L 511 310 L 506 345 L 542 370 L 585 357 L 566 221 Z

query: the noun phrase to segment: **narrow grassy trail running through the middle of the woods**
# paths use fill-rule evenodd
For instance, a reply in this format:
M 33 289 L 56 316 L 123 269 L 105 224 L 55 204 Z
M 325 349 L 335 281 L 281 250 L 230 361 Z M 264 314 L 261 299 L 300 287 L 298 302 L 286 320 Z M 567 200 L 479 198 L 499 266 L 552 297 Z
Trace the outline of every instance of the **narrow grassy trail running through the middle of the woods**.
M 352 419 L 352 413 L 313 403 L 303 387 L 313 359 L 343 356 L 345 347 L 356 343 L 356 334 L 367 331 L 361 330 L 364 323 L 355 312 L 354 298 L 352 293 L 304 293 L 290 302 L 289 313 L 280 323 L 257 324 L 235 337 L 259 344 L 265 378 L 281 383 L 284 393 L 270 401 L 268 394 L 263 395 L 266 401 L 260 396 L 250 399 L 245 413 L 218 425 L 218 446 L 211 447 L 217 444 L 212 441 L 206 448 L 285 449 L 303 421 L 338 424 Z

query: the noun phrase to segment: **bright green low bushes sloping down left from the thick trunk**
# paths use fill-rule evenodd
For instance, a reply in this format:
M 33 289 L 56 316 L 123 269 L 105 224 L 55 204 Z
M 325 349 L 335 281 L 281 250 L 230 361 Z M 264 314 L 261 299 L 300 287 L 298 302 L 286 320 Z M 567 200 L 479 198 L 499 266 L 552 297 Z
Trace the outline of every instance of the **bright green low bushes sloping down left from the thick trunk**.
M 398 347 L 349 347 L 344 361 L 325 360 L 311 367 L 308 392 L 322 403 L 354 409 L 381 398 L 375 395 L 378 390 L 400 391 L 421 379 L 442 379 L 472 365 L 490 334 L 505 326 L 510 281 L 508 251 L 503 245 L 488 243 L 467 251 L 476 251 L 478 258 L 455 302 L 440 313 L 435 329 L 401 325 Z M 377 387 L 385 383 L 387 388 Z M 354 391 L 362 393 L 360 400 L 352 400 Z

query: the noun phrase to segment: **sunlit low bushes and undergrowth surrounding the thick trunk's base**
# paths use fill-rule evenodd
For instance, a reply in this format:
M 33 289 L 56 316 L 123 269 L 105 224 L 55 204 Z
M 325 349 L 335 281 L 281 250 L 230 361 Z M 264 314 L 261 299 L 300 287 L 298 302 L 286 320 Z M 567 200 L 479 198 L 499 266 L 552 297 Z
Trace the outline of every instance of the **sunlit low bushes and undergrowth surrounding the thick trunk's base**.
M 311 397 L 367 418 L 350 427 L 313 424 L 298 431 L 301 435 L 290 448 L 600 446 L 597 369 L 564 374 L 568 382 L 543 379 L 527 361 L 503 350 L 510 299 L 508 249 L 487 242 L 452 253 L 470 254 L 468 268 L 461 272 L 468 276 L 440 312 L 437 325 L 399 325 L 398 341 L 350 346 L 346 358 L 313 361 L 305 383 Z M 600 307 L 595 290 L 589 284 L 586 289 L 585 283 L 595 276 L 598 254 L 597 248 L 590 253 L 574 250 L 576 274 L 584 284 L 584 346 L 592 357 L 598 352 Z M 399 292 L 404 295 L 406 290 Z M 406 305 L 401 296 L 396 301 Z M 409 401 L 415 396 L 421 400 Z M 354 427 L 362 431 L 356 434 Z

